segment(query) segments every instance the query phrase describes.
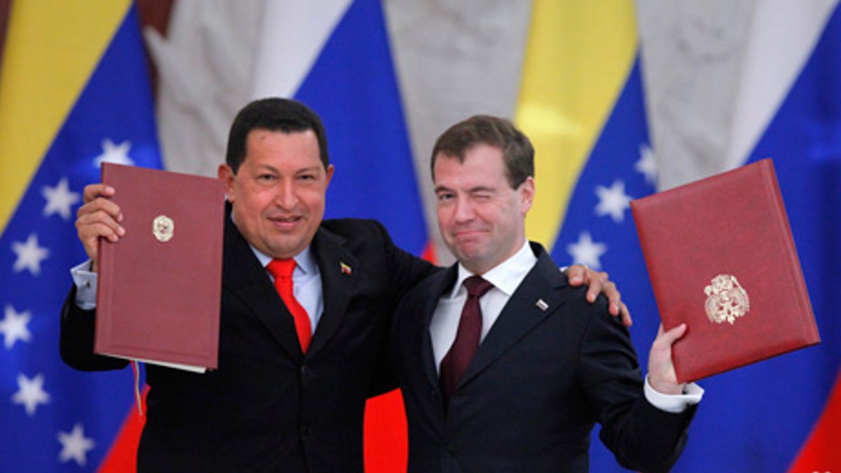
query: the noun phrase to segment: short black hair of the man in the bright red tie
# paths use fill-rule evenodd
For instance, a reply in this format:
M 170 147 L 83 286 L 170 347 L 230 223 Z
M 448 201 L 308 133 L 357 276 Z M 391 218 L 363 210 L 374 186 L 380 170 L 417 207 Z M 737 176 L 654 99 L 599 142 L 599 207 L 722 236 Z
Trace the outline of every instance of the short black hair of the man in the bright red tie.
M 289 98 L 261 98 L 247 104 L 236 114 L 228 134 L 225 162 L 236 173 L 246 159 L 246 141 L 252 130 L 296 133 L 313 130 L 318 139 L 321 164 L 330 166 L 327 155 L 327 136 L 318 114 L 297 100 Z

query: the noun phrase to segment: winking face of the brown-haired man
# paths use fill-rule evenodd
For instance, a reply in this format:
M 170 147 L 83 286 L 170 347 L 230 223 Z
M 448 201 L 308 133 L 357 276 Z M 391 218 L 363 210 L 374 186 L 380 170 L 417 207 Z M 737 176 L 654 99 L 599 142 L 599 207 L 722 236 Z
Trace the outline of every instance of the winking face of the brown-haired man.
M 484 274 L 518 252 L 526 242 L 526 213 L 534 180 L 511 189 L 502 151 L 479 144 L 463 163 L 439 153 L 432 170 L 438 228 L 447 247 L 465 268 Z

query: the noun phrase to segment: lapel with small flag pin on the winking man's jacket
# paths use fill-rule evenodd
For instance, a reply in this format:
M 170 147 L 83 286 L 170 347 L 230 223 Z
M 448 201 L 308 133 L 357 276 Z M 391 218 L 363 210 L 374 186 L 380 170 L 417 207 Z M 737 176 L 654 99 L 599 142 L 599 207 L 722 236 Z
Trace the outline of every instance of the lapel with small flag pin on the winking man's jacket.
M 523 279 L 511 295 L 494 326 L 484 337 L 459 382 L 460 385 L 479 375 L 489 364 L 563 304 L 563 298 L 558 289 L 567 284 L 566 279 L 542 247 L 533 243 L 532 248 L 537 253 L 537 263 L 526 274 L 526 279 Z

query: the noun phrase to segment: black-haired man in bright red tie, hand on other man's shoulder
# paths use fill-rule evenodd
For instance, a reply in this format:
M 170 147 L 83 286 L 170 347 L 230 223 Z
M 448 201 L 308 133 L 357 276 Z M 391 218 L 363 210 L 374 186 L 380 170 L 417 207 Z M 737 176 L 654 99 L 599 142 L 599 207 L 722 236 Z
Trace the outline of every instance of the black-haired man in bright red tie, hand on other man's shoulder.
M 378 222 L 322 221 L 332 175 L 325 130 L 303 104 L 267 98 L 237 115 L 219 167 L 228 199 L 219 369 L 147 366 L 138 470 L 362 471 L 366 398 L 394 387 L 378 376 L 390 316 L 435 268 L 395 247 Z M 98 240 L 124 234 L 114 192 L 87 186 L 78 212 L 91 262 L 74 270 L 61 317 L 61 356 L 77 369 L 127 363 L 93 353 L 95 296 L 82 280 L 96 271 Z M 297 328 L 269 274 L 289 258 L 308 317 Z M 575 271 L 594 278 L 594 297 L 604 283 L 624 309 L 604 274 Z M 307 328 L 309 341 L 299 338 Z

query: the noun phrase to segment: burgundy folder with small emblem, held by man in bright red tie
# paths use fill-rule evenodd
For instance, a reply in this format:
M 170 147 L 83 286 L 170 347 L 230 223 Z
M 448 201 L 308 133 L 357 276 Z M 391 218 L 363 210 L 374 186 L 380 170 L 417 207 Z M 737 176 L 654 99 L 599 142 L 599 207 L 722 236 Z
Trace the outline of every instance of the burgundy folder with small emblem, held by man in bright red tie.
M 218 179 L 103 163 L 125 236 L 99 243 L 94 350 L 217 368 L 225 189 Z

